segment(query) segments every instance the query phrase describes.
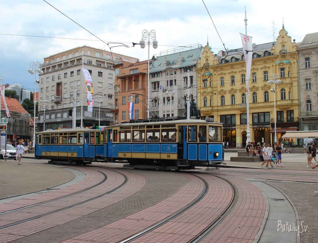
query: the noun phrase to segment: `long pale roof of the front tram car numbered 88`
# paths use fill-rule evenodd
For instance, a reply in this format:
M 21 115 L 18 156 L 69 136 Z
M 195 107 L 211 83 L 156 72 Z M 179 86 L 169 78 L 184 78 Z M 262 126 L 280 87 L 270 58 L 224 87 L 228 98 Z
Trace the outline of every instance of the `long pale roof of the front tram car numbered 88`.
M 198 119 L 180 119 L 180 120 L 168 120 L 168 121 L 140 121 L 140 122 L 125 122 L 120 124 L 114 124 L 111 126 L 108 126 L 107 128 L 112 127 L 128 127 L 128 126 L 138 126 L 138 125 L 158 125 L 158 124 L 215 124 L 215 125 L 222 125 L 223 123 L 220 122 L 209 122 L 205 120 L 198 120 Z

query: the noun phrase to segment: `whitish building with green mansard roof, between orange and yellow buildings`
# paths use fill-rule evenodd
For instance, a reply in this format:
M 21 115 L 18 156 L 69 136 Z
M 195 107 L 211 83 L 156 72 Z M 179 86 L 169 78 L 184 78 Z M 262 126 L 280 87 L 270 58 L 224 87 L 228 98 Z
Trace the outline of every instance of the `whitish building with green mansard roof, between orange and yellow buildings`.
M 150 66 L 151 116 L 185 116 L 188 73 L 190 97 L 197 101 L 196 65 L 203 51 L 202 45 L 171 49 L 156 56 Z

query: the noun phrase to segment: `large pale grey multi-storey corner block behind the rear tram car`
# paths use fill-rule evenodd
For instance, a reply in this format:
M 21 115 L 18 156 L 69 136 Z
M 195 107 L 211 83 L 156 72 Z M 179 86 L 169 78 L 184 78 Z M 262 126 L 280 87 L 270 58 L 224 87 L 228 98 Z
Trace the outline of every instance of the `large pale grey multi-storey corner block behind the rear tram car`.
M 136 62 L 137 58 L 89 46 L 77 47 L 44 58 L 39 82 L 38 127 L 44 129 L 106 126 L 114 122 L 114 63 Z M 92 77 L 93 109 L 88 110 L 82 68 Z M 76 105 L 76 113 L 70 110 Z M 92 102 L 91 102 L 92 103 Z

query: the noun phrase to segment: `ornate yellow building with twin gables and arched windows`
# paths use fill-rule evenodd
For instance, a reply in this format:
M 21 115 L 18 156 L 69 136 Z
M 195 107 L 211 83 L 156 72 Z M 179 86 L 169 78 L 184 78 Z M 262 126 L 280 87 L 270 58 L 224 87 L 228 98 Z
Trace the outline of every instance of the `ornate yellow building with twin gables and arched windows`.
M 274 142 L 274 95 L 277 141 L 286 131 L 299 130 L 298 53 L 284 25 L 275 42 L 253 44 L 249 95 L 246 92 L 246 65 L 242 48 L 214 54 L 209 43 L 197 63 L 197 106 L 204 117 L 223 123 L 223 141 L 229 147 L 245 148 L 247 113 L 251 141 Z M 268 83 L 279 80 L 279 84 Z

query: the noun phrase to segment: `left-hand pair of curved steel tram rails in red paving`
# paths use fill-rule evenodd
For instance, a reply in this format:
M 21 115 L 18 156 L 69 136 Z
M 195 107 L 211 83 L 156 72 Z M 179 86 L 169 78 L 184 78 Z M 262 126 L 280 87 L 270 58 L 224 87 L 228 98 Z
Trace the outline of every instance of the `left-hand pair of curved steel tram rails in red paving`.
M 100 171 L 99 171 L 99 172 L 100 172 Z M 100 172 L 100 173 L 102 173 L 102 172 Z M 30 217 L 30 218 L 27 218 L 27 219 L 24 219 L 24 220 L 19 220 L 19 221 L 10 223 L 10 224 L 6 224 L 6 225 L 3 225 L 3 226 L 0 226 L 0 229 L 7 228 L 7 227 L 10 227 L 10 226 L 14 226 L 14 225 L 17 225 L 17 224 L 21 224 L 21 223 L 24 223 L 24 222 L 28 222 L 28 221 L 31 221 L 31 220 L 35 220 L 35 219 L 38 219 L 38 218 L 41 218 L 41 217 L 44 217 L 44 216 L 47 216 L 47 215 L 50 215 L 50 214 L 53 214 L 53 213 L 58 213 L 58 212 L 61 212 L 61 211 L 63 211 L 63 210 L 66 210 L 66 209 L 69 209 L 69 208 L 72 208 L 72 207 L 79 206 L 79 205 L 84 204 L 84 203 L 86 203 L 86 202 L 89 202 L 89 201 L 98 199 L 98 198 L 100 198 L 100 197 L 102 197 L 102 196 L 105 196 L 105 195 L 107 195 L 107 194 L 110 194 L 110 193 L 112 193 L 112 192 L 114 192 L 114 191 L 120 189 L 121 187 L 123 187 L 123 186 L 128 182 L 128 177 L 127 177 L 125 174 L 123 174 L 123 173 L 121 173 L 121 172 L 118 172 L 118 171 L 116 171 L 116 173 L 121 174 L 121 175 L 124 177 L 124 181 L 121 183 L 121 185 L 119 185 L 118 187 L 115 187 L 115 188 L 112 189 L 112 190 L 109 190 L 109 191 L 107 191 L 107 192 L 105 192 L 105 193 L 103 193 L 103 194 L 100 194 L 100 195 L 98 195 L 98 196 L 89 198 L 89 199 L 84 200 L 84 201 L 81 201 L 81 202 L 79 202 L 79 203 L 72 204 L 72 205 L 67 206 L 67 207 L 62 207 L 62 208 L 59 208 L 59 209 L 57 209 L 57 210 L 54 210 L 54 211 L 51 211 L 51 212 L 48 212 L 48 213 L 43 213 L 43 214 L 40 214 L 40 215 L 37 215 L 37 216 L 34 216 L 34 217 Z M 102 173 L 102 174 L 104 174 L 104 173 Z M 83 193 L 83 192 L 85 192 L 85 191 L 87 191 L 87 190 L 90 190 L 90 189 L 92 189 L 92 188 L 94 188 L 94 187 L 97 187 L 97 186 L 101 185 L 103 182 L 105 182 L 107 176 L 106 176 L 106 174 L 104 174 L 104 176 L 105 176 L 105 178 L 104 178 L 103 181 L 97 183 L 96 185 L 94 185 L 94 186 L 92 186 L 92 187 L 83 189 L 83 190 L 80 191 L 80 192 L 76 192 L 76 193 L 69 194 L 69 195 L 66 195 L 66 196 L 63 196 L 63 197 L 59 197 L 59 198 L 56 198 L 56 199 L 48 200 L 48 201 L 45 201 L 45 202 L 42 202 L 42 203 L 38 203 L 38 204 L 26 206 L 26 207 L 21 207 L 21 208 L 15 209 L 15 210 L 10 210 L 10 211 L 7 211 L 7 212 L 3 212 L 2 214 L 20 211 L 20 210 L 23 210 L 23 209 L 25 209 L 25 208 L 35 207 L 35 206 L 38 206 L 38 205 L 42 205 L 42 204 L 44 204 L 44 203 L 48 203 L 48 202 L 60 200 L 60 199 L 63 199 L 63 198 L 72 196 L 72 195 L 74 195 L 74 194 Z

